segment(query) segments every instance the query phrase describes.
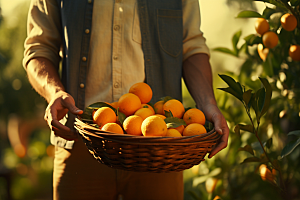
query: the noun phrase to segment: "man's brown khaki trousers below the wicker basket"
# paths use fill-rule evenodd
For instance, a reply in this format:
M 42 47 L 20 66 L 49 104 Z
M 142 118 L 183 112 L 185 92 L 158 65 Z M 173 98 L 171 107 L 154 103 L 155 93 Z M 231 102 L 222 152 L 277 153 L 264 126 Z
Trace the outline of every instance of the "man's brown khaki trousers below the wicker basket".
M 115 170 L 99 163 L 79 139 L 73 149 L 56 147 L 54 200 L 182 200 L 183 173 Z

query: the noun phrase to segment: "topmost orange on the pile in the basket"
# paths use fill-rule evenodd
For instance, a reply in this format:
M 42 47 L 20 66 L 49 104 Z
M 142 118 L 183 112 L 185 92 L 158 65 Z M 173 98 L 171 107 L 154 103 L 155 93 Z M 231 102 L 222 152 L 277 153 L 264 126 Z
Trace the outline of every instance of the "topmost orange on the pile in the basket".
M 129 88 L 129 93 L 138 96 L 142 103 L 148 103 L 152 99 L 152 89 L 147 83 L 136 83 Z

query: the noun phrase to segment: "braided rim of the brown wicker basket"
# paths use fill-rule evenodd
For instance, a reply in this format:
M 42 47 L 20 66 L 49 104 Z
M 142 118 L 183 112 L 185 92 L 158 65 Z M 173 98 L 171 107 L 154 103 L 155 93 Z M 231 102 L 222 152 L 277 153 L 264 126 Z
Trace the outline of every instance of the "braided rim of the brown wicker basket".
M 195 143 L 207 143 L 218 140 L 221 135 L 213 128 L 207 133 L 193 136 L 182 137 L 166 137 L 166 136 L 134 136 L 128 134 L 118 134 L 108 131 L 100 130 L 89 124 L 84 123 L 79 118 L 75 118 L 74 127 L 81 135 L 89 135 L 96 138 L 107 139 L 114 142 L 126 144 L 140 144 L 140 145 L 191 145 Z

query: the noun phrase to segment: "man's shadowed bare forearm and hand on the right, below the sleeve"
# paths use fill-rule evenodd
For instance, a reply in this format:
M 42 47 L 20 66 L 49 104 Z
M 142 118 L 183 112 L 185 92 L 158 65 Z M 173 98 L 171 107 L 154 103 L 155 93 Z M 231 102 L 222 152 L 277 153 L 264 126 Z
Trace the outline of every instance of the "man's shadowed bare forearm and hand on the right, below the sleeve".
M 216 131 L 222 135 L 220 143 L 209 155 L 211 158 L 227 146 L 229 129 L 215 100 L 209 56 L 199 53 L 187 58 L 183 63 L 183 78 L 197 107 L 203 111 L 206 119 L 211 121 Z

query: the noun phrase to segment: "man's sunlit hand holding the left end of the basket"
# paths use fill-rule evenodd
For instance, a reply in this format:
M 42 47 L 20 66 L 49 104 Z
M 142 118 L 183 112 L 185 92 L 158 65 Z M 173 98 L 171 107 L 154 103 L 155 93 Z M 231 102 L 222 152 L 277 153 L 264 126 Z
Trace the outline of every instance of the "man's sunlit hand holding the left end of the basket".
M 74 115 L 80 115 L 82 110 L 75 106 L 75 101 L 71 95 L 64 91 L 59 91 L 50 100 L 45 112 L 45 120 L 56 136 L 66 140 L 76 140 L 77 135 L 69 127 L 62 125 L 59 120 L 63 119 L 70 111 Z

